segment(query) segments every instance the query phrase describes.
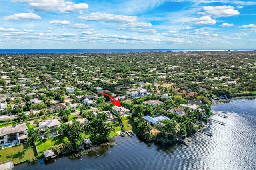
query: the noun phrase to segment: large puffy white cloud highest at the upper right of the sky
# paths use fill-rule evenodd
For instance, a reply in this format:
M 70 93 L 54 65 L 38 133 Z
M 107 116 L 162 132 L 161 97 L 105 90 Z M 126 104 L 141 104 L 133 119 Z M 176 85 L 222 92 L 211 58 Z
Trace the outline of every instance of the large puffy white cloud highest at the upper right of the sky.
M 239 15 L 238 10 L 234 10 L 233 6 L 204 6 L 204 12 L 198 12 L 197 14 L 210 15 L 215 17 L 229 17 Z

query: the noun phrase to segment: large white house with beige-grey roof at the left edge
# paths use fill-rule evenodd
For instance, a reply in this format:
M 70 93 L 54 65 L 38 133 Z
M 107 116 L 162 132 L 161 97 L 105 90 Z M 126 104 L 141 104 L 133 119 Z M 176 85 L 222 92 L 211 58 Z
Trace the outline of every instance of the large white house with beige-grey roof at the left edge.
M 14 126 L 0 128 L 0 144 L 3 147 L 15 146 L 26 143 L 28 139 L 28 127 L 26 123 L 18 123 Z

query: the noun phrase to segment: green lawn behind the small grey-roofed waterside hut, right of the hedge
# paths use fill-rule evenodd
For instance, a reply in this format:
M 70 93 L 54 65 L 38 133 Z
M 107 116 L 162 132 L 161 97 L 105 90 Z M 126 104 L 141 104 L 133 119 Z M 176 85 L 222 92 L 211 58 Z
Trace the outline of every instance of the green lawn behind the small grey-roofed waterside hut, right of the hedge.
M 45 140 L 40 138 L 36 141 L 36 147 L 37 147 L 38 153 L 40 154 L 44 150 L 48 150 L 50 146 L 58 145 L 66 141 L 68 141 L 68 138 L 65 135 L 60 135 L 60 136 L 53 137 L 50 139 L 45 139 Z

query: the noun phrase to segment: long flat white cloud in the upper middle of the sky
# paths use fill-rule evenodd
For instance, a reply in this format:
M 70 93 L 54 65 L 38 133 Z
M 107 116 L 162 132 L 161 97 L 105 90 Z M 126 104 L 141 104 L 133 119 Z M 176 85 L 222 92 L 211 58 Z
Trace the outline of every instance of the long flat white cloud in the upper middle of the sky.
M 114 15 L 100 12 L 92 12 L 86 16 L 78 16 L 77 18 L 87 21 L 104 21 L 104 22 L 136 22 L 136 16 Z

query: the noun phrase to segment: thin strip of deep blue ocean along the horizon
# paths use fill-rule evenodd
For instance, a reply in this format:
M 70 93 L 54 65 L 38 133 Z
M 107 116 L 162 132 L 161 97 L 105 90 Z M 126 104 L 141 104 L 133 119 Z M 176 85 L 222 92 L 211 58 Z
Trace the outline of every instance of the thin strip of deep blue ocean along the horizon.
M 255 49 L 0 49 L 0 54 L 31 53 L 140 53 L 140 52 L 178 52 L 178 51 L 252 51 Z

